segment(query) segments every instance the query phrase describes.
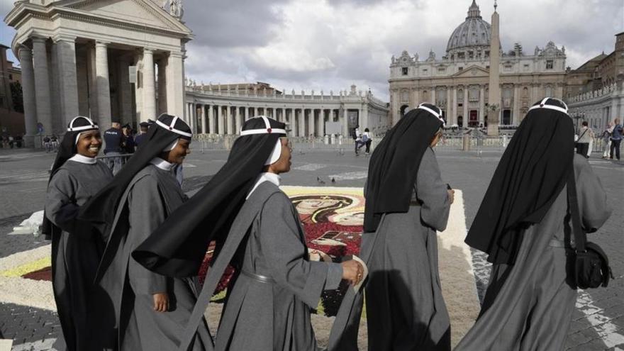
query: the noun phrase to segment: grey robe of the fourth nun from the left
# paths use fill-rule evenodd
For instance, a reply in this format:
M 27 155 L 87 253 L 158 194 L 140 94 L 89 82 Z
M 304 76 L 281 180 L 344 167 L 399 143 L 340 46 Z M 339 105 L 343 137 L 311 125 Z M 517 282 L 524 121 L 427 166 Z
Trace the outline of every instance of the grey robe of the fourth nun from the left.
M 436 236 L 446 228 L 450 202 L 431 148 L 414 186 L 409 211 L 386 213 L 377 231 L 362 238 L 362 252 L 369 252 L 369 350 L 450 350 Z

